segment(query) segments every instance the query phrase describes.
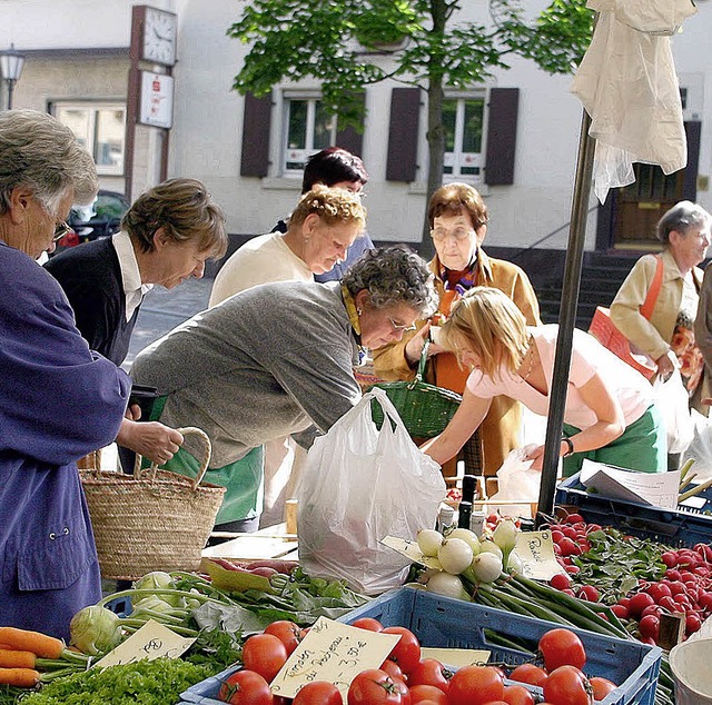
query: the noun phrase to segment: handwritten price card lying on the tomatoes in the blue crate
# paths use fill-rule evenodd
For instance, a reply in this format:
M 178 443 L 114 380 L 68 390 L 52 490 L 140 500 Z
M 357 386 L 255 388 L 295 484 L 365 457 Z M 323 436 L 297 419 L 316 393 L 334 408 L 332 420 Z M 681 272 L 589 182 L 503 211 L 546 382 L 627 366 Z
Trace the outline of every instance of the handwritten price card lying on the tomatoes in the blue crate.
M 319 617 L 269 687 L 275 695 L 295 697 L 307 683 L 328 681 L 346 702 L 352 681 L 362 671 L 379 668 L 399 638 Z

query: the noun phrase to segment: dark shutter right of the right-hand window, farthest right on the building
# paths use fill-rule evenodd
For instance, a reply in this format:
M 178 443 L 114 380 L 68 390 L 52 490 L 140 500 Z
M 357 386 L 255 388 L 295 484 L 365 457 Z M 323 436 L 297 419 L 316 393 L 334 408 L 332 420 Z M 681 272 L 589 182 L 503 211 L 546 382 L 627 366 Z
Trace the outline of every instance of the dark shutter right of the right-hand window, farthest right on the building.
M 488 107 L 485 183 L 514 183 L 520 89 L 492 88 Z

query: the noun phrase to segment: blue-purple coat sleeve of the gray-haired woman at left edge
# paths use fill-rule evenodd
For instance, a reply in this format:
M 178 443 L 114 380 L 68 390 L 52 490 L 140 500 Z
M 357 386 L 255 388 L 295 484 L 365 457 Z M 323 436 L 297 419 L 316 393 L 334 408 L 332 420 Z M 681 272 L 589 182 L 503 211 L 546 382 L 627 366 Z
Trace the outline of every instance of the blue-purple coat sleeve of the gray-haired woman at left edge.
M 89 350 L 59 285 L 29 265 L 0 297 L 0 453 L 60 466 L 116 438 L 130 380 Z

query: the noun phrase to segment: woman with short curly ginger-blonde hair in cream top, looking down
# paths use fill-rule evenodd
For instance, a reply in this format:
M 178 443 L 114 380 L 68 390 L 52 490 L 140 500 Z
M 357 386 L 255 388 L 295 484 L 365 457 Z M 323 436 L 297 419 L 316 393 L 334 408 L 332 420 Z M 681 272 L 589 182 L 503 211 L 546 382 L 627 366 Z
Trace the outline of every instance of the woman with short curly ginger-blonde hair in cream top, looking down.
M 342 159 L 329 161 L 330 172 L 342 173 L 346 168 Z M 347 173 L 356 176 L 352 167 Z M 256 237 L 225 262 L 212 285 L 210 306 L 258 284 L 314 281 L 315 275 L 330 271 L 364 230 L 366 211 L 353 190 L 356 186 L 360 188 L 360 182 L 339 182 L 336 188 L 316 183 L 307 189 L 284 235 L 276 229 Z M 298 481 L 301 455 L 288 436 L 265 445 L 264 526 L 283 520 L 285 502 Z

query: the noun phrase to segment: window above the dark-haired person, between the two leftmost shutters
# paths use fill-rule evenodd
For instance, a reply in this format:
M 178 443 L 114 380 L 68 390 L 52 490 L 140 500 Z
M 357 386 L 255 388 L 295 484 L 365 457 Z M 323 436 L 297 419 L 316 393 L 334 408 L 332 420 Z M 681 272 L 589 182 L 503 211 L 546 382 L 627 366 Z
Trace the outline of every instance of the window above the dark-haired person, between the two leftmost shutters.
M 301 177 L 307 157 L 335 143 L 336 117 L 326 115 L 318 98 L 285 97 L 283 172 Z

